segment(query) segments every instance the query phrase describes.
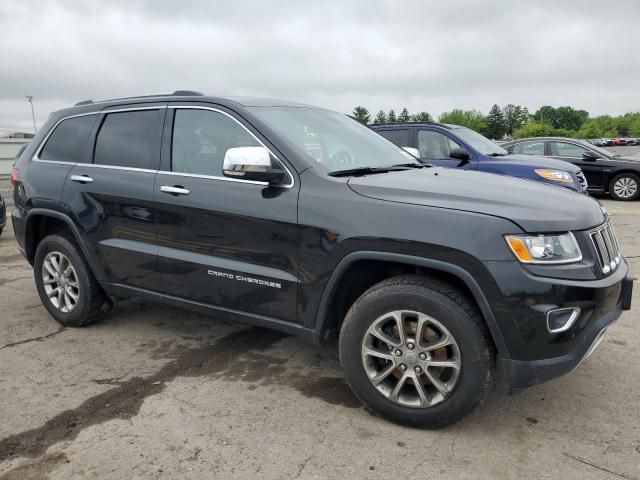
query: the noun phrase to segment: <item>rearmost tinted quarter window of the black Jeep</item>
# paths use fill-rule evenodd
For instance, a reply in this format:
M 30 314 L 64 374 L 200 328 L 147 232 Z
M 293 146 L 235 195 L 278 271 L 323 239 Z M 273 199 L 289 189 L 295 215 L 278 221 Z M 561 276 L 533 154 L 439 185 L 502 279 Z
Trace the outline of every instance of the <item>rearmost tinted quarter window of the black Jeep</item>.
M 89 134 L 97 117 L 85 115 L 63 120 L 47 140 L 40 158 L 59 162 L 84 162 Z

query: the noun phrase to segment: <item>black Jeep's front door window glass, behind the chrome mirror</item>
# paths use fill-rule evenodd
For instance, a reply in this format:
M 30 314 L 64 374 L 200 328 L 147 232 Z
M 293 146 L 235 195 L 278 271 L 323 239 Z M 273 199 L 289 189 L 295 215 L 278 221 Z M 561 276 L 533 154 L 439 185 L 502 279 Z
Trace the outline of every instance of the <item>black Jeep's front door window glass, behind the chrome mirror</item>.
M 260 143 L 247 130 L 223 113 L 176 109 L 173 120 L 171 170 L 222 177 L 227 150 L 259 146 Z

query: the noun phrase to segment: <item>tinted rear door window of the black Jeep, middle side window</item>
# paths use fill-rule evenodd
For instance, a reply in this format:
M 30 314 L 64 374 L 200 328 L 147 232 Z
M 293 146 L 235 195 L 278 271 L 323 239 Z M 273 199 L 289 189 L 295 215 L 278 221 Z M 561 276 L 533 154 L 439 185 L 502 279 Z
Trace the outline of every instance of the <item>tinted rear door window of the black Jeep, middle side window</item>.
M 159 111 L 108 114 L 96 140 L 94 163 L 133 168 L 158 168 Z

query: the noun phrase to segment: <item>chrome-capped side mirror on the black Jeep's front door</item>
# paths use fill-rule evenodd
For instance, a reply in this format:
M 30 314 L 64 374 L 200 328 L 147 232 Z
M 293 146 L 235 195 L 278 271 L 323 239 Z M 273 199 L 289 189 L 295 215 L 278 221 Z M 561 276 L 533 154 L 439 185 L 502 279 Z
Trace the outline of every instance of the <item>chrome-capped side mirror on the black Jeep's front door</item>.
M 222 172 L 225 177 L 267 182 L 277 185 L 284 178 L 284 171 L 273 168 L 271 156 L 264 147 L 235 147 L 224 155 Z

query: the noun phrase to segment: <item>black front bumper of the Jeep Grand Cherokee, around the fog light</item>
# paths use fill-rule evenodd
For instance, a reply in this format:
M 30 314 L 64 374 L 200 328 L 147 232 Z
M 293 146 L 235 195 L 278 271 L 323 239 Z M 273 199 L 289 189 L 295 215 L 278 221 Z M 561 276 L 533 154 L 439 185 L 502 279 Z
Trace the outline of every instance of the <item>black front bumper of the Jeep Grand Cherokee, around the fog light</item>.
M 525 268 L 517 262 L 489 261 L 485 266 L 489 278 L 484 290 L 503 339 L 498 371 L 509 390 L 571 371 L 598 336 L 631 308 L 633 280 L 626 261 L 613 274 L 596 280 L 584 278 L 588 271 L 574 272 L 569 267 L 554 268 L 561 270 L 562 279 L 543 276 L 548 273 L 544 269 Z M 570 276 L 575 279 L 566 279 Z M 553 332 L 547 314 L 557 309 L 580 313 L 570 328 Z

